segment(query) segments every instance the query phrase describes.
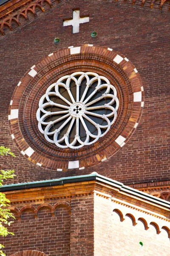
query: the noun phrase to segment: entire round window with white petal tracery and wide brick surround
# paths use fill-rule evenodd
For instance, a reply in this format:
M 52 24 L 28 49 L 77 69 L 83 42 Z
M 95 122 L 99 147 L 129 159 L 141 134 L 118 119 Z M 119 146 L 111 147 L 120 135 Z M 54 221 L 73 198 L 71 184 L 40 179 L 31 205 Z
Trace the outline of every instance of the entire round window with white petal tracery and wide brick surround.
M 16 84 L 8 121 L 29 161 L 81 172 L 121 150 L 143 106 L 136 67 L 111 48 L 85 44 L 49 52 L 34 64 Z

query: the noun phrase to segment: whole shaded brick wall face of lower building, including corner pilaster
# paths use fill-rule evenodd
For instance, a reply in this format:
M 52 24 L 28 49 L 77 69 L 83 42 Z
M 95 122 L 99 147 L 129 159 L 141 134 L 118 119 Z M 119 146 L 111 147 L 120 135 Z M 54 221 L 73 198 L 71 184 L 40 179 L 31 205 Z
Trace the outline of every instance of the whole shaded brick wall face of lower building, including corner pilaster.
M 32 190 L 34 195 L 36 192 Z M 20 193 L 22 194 L 22 191 Z M 48 190 L 40 194 L 45 193 L 50 196 Z M 57 193 L 59 191 L 55 192 Z M 14 223 L 8 230 L 14 232 L 14 236 L 0 239 L 0 243 L 5 246 L 6 256 L 22 251 L 27 251 L 24 256 L 34 255 L 29 254 L 30 251 L 39 251 L 51 256 L 93 255 L 94 195 L 85 193 L 71 197 L 67 194 L 67 201 L 54 199 L 54 195 L 53 200 L 47 200 L 48 203 L 44 203 L 42 197 L 36 199 L 42 201 L 41 203 L 33 203 L 33 198 L 27 201 L 17 200 L 15 193 L 12 197 L 15 202 L 12 202 L 10 209 L 16 219 L 10 219 Z

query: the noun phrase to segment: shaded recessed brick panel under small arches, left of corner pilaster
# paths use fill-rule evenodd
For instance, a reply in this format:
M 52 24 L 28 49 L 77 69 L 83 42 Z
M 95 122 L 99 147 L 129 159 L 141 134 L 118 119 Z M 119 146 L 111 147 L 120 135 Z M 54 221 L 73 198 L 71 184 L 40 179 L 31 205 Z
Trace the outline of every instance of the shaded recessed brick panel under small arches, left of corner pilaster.
M 52 204 L 53 205 L 53 204 Z M 37 207 L 38 205 L 34 205 Z M 14 236 L 1 239 L 6 255 L 23 250 L 38 250 L 47 255 L 69 256 L 70 252 L 70 209 L 59 205 L 52 216 L 49 207 L 40 207 L 37 215 L 34 209 L 23 210 L 21 219 L 8 227 Z

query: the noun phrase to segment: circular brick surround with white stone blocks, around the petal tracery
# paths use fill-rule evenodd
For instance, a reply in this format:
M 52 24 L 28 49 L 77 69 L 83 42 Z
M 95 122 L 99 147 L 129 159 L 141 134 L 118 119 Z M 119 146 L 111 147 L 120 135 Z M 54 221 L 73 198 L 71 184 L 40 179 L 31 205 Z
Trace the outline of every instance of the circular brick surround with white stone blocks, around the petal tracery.
M 96 143 L 79 149 L 48 143 L 37 127 L 36 112 L 46 89 L 61 76 L 96 72 L 116 87 L 119 109 L 116 122 Z M 116 153 L 131 137 L 144 105 L 142 81 L 136 68 L 112 49 L 93 45 L 67 47 L 49 54 L 23 76 L 14 90 L 9 113 L 11 137 L 31 162 L 47 169 L 84 169 Z

